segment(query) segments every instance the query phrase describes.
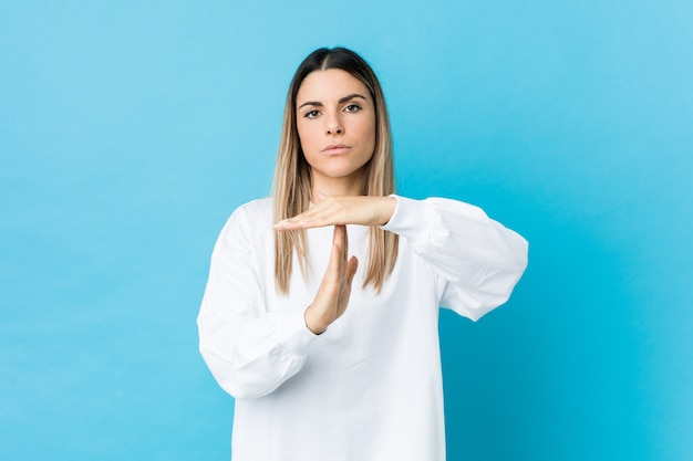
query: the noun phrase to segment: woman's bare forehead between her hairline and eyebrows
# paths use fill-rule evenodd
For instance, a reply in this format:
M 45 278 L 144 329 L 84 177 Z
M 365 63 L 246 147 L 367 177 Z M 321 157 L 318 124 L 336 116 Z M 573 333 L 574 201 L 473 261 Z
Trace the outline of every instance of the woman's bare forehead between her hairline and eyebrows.
M 299 86 L 296 99 L 299 105 L 306 101 L 328 103 L 350 94 L 370 99 L 368 87 L 359 78 L 339 69 L 328 69 L 308 74 Z

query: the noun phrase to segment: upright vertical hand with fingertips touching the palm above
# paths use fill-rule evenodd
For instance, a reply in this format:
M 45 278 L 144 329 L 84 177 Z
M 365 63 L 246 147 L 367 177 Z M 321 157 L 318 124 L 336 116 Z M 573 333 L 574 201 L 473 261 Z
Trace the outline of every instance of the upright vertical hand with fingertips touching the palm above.
M 359 261 L 351 256 L 346 261 L 349 240 L 344 226 L 334 227 L 330 262 L 322 277 L 318 294 L 303 314 L 306 326 L 319 335 L 338 319 L 346 310 L 351 295 L 351 282 L 356 273 Z

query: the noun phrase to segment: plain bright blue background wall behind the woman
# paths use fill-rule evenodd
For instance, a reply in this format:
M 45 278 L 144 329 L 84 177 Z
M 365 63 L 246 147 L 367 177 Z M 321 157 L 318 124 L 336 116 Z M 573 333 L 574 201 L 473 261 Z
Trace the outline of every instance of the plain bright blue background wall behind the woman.
M 0 459 L 226 460 L 197 353 L 214 241 L 269 193 L 321 45 L 389 99 L 400 192 L 530 241 L 441 321 L 451 460 L 693 459 L 693 3 L 0 6 Z

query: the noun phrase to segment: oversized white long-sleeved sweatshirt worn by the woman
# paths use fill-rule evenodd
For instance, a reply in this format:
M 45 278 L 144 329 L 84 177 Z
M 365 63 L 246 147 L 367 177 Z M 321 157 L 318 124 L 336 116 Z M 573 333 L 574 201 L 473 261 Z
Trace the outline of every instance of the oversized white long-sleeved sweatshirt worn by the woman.
M 369 231 L 348 226 L 359 270 L 345 313 L 321 335 L 303 313 L 333 229 L 307 231 L 312 270 L 303 280 L 294 261 L 285 296 L 272 200 L 241 206 L 224 227 L 198 326 L 209 369 L 236 398 L 234 461 L 445 460 L 438 306 L 476 321 L 503 304 L 528 247 L 474 206 L 396 199 L 382 227 L 401 237 L 392 275 L 380 294 L 362 287 Z

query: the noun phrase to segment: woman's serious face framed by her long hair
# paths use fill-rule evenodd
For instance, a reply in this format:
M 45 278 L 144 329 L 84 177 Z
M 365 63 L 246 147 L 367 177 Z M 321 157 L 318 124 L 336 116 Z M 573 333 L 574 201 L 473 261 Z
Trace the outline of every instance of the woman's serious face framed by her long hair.
M 360 187 L 375 149 L 375 106 L 366 86 L 341 70 L 314 71 L 299 87 L 296 117 L 313 184 Z

